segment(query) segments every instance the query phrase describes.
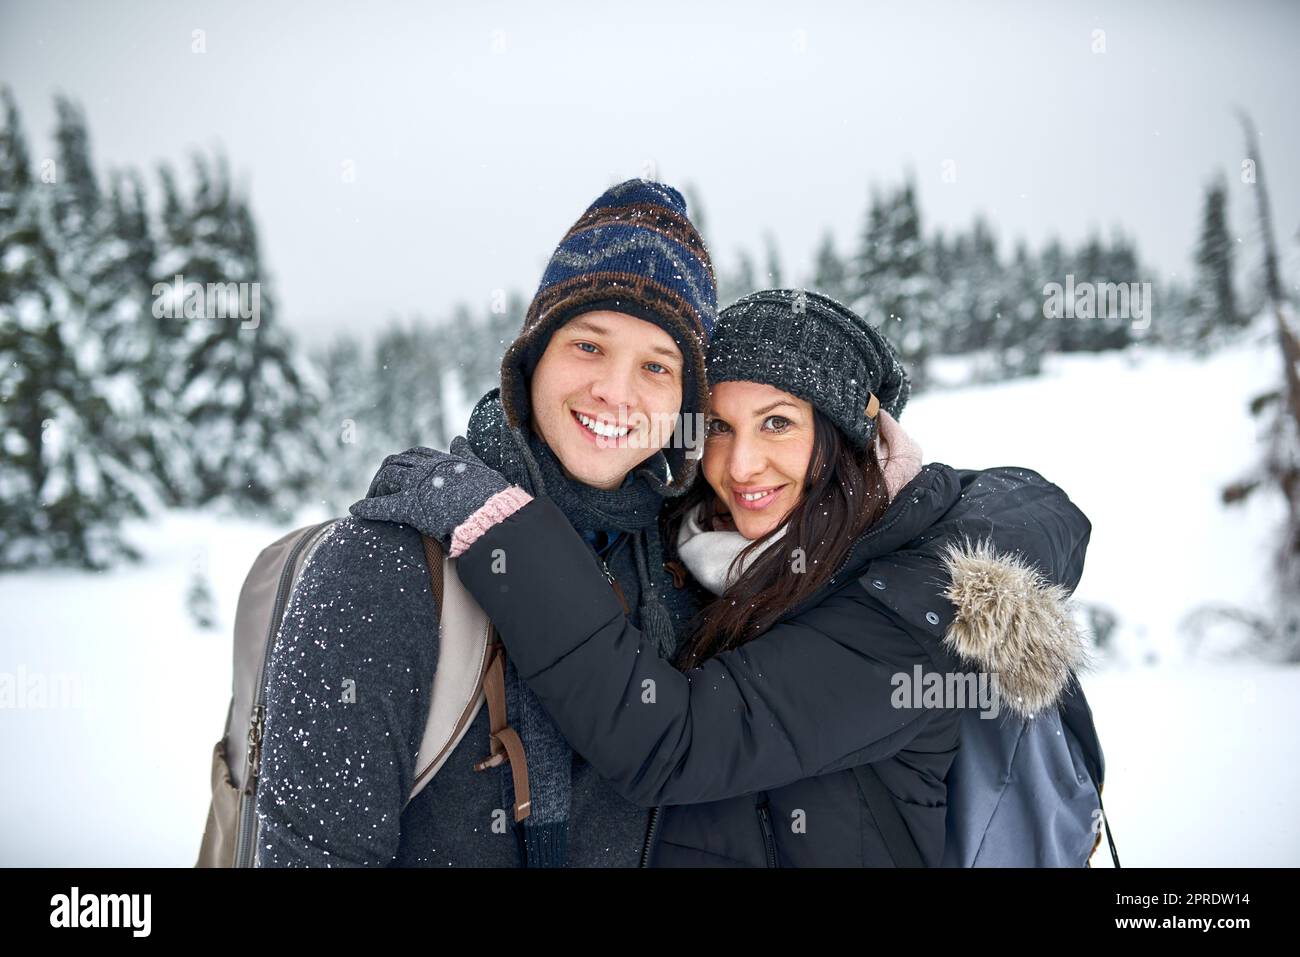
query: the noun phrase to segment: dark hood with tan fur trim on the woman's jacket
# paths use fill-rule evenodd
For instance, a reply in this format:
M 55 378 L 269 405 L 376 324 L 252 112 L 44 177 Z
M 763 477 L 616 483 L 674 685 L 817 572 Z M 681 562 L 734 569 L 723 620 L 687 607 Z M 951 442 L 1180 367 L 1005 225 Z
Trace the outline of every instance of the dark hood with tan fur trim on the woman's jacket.
M 1070 601 L 1092 524 L 1037 472 L 931 463 L 905 485 L 832 579 L 861 580 L 959 667 L 996 675 L 1004 706 L 1053 706 L 1089 641 Z

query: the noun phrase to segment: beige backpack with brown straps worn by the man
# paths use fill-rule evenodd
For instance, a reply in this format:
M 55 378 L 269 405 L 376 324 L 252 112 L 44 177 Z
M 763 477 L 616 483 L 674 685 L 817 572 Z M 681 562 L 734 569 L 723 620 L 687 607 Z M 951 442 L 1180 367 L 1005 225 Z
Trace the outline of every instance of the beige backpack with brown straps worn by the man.
M 225 733 L 212 749 L 212 802 L 196 867 L 256 866 L 257 775 L 265 722 L 266 666 L 285 610 L 303 568 L 339 519 L 294 529 L 252 563 L 235 610 L 234 693 Z M 506 720 L 506 649 L 491 622 L 460 584 L 455 559 L 428 536 L 424 555 L 438 607 L 438 666 L 429 715 L 416 753 L 407 804 L 433 780 L 469 729 L 484 702 L 491 719 L 491 752 L 476 771 L 510 762 L 515 820 L 529 814 L 528 765 L 519 735 Z

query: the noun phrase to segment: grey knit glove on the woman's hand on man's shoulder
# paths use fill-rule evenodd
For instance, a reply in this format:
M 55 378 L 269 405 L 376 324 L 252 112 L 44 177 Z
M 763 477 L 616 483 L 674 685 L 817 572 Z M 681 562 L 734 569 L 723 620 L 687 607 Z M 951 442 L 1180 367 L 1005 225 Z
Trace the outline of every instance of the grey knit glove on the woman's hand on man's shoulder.
M 458 436 L 450 452 L 416 446 L 387 456 L 365 498 L 348 511 L 359 519 L 413 525 L 450 549 L 451 533 L 508 488 Z

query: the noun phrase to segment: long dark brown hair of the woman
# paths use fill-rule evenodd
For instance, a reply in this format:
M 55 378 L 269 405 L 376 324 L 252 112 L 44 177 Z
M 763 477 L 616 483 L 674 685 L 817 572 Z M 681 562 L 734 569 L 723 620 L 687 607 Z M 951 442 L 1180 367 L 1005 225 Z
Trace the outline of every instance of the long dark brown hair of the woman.
M 858 536 L 889 507 L 875 443 L 857 449 L 816 408 L 812 423 L 812 455 L 803 497 L 781 525 L 746 545 L 736 562 L 744 562 L 760 549 L 781 527 L 785 537 L 779 546 L 766 549 L 754 559 L 725 594 L 701 609 L 693 635 L 677 653 L 676 663 L 682 671 L 757 638 L 781 612 L 814 594 L 835 575 Z M 701 506 L 701 525 L 708 529 L 716 515 L 718 497 L 703 477 L 666 511 L 664 541 L 675 544 L 681 523 Z

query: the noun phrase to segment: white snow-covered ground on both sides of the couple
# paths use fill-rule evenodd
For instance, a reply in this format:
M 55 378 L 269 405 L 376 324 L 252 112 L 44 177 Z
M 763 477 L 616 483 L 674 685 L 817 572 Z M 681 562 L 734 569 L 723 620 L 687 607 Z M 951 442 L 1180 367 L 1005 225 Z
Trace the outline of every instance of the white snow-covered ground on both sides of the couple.
M 1256 454 L 1245 403 L 1279 363 L 1265 334 L 1202 360 L 1060 358 L 1040 378 L 916 398 L 901 419 L 927 460 L 1034 468 L 1092 520 L 1076 597 L 1121 625 L 1084 688 L 1126 866 L 1300 865 L 1300 668 L 1192 658 L 1179 632 L 1201 603 L 1266 597 L 1280 503 L 1218 502 Z M 0 576 L 0 672 L 48 698 L 0 709 L 0 865 L 194 863 L 235 599 L 283 531 L 170 512 L 131 525 L 138 567 Z M 186 611 L 196 567 L 214 631 Z

